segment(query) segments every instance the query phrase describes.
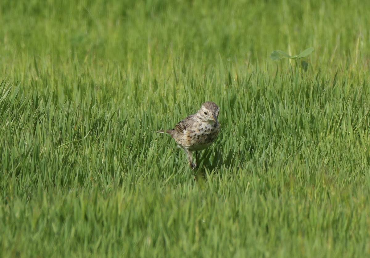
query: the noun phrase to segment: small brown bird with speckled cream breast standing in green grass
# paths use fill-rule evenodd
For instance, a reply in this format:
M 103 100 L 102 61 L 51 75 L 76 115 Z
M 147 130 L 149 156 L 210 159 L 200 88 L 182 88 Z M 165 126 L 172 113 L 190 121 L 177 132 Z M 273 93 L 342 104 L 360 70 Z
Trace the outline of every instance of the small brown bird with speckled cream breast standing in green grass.
M 217 120 L 219 112 L 219 106 L 207 101 L 198 112 L 178 122 L 174 129 L 156 132 L 171 135 L 188 155 L 190 167 L 195 169 L 198 166 L 196 152 L 211 146 L 220 132 L 220 123 Z M 195 152 L 195 163 L 193 163 L 193 152 Z

